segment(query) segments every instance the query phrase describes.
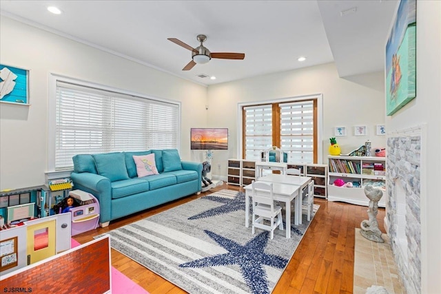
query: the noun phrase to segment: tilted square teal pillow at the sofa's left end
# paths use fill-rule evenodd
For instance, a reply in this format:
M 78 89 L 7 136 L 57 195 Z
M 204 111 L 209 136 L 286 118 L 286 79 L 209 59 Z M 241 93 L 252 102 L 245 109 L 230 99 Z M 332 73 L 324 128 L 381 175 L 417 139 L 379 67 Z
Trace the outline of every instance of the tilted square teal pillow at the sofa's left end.
M 96 170 L 101 176 L 105 176 L 110 182 L 127 180 L 127 168 L 125 167 L 124 154 L 121 152 L 94 154 Z

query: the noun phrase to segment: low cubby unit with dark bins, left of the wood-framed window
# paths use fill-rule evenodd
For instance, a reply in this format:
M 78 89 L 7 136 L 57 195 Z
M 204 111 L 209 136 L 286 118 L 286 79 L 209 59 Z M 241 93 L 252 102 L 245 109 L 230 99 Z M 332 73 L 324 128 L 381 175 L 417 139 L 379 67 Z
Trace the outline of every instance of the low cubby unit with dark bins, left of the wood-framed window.
M 228 181 L 229 185 L 246 186 L 256 179 L 256 160 L 229 159 Z

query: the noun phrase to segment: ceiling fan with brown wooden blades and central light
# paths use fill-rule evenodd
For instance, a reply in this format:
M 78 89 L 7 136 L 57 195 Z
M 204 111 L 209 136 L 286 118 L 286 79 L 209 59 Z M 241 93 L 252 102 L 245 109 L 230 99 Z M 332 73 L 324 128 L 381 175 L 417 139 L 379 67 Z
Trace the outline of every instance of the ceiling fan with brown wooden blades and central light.
M 196 36 L 201 45 L 196 48 L 192 48 L 192 46 L 185 44 L 183 41 L 178 40 L 176 38 L 168 38 L 167 40 L 172 41 L 185 49 L 192 51 L 192 61 L 187 63 L 182 70 L 191 70 L 196 63 L 207 63 L 210 59 L 245 59 L 244 53 L 232 53 L 232 52 L 209 52 L 209 50 L 202 45 L 202 43 L 207 40 L 207 36 L 205 34 L 198 34 Z

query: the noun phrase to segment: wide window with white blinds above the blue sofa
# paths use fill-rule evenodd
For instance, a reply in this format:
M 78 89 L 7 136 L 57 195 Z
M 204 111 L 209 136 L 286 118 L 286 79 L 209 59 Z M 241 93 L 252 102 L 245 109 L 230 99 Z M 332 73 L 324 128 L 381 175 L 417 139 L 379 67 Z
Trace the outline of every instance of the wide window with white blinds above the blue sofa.
M 55 170 L 72 156 L 178 147 L 180 106 L 57 81 Z

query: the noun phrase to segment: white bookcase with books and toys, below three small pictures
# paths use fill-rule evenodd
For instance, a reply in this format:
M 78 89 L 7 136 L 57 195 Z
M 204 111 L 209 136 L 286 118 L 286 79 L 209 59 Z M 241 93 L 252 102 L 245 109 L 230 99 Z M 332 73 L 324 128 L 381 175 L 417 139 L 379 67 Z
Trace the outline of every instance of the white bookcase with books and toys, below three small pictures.
M 375 156 L 328 156 L 328 200 L 342 201 L 363 206 L 369 205 L 364 187 L 372 185 L 383 191 L 383 197 L 378 202 L 379 207 L 385 207 L 386 197 L 386 158 Z M 337 187 L 334 181 L 342 179 L 352 182 L 353 187 Z

